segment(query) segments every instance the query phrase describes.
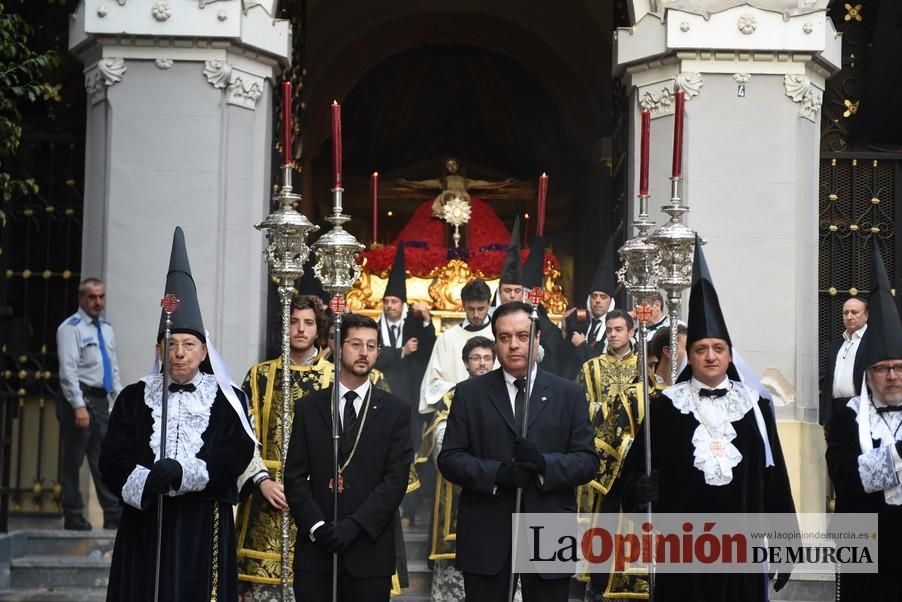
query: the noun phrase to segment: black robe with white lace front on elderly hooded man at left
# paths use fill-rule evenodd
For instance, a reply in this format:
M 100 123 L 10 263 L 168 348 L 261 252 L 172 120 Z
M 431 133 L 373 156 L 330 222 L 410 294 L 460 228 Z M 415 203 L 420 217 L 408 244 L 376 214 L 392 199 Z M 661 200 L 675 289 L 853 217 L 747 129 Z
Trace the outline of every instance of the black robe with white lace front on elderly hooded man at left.
M 181 425 L 180 438 L 187 437 L 186 430 L 202 429 L 202 445 L 195 457 L 203 460 L 209 480 L 201 483 L 203 487 L 197 491 L 164 497 L 160 600 L 238 599 L 232 506 L 238 500 L 237 479 L 251 460 L 254 442 L 242 427 L 235 409 L 216 387 L 213 375 L 205 374 L 203 378 L 206 386 L 199 386 L 198 392 L 206 390 L 206 397 L 213 398 L 208 406 L 208 421 L 190 415 L 190 408 L 188 411 L 180 408 L 170 396 L 170 429 L 174 429 L 173 420 Z M 162 377 L 155 375 L 147 379 Z M 154 463 L 151 449 L 154 419 L 145 402 L 145 386 L 149 385 L 138 382 L 120 393 L 103 441 L 100 470 L 104 482 L 120 498 L 136 466 L 150 468 Z M 159 385 L 155 389 L 159 390 Z M 244 399 L 240 392 L 238 398 Z M 157 397 L 157 412 L 159 407 Z M 172 435 L 167 441 L 168 457 L 176 456 L 182 463 L 192 462 L 175 453 L 174 448 L 182 449 L 184 441 L 180 445 Z M 183 487 L 191 481 L 188 472 L 185 470 L 183 475 Z M 139 484 L 139 491 L 141 487 Z M 153 600 L 156 525 L 156 496 L 145 499 L 143 510 L 123 503 L 122 521 L 113 548 L 108 601 Z M 218 527 L 215 532 L 214 527 Z

